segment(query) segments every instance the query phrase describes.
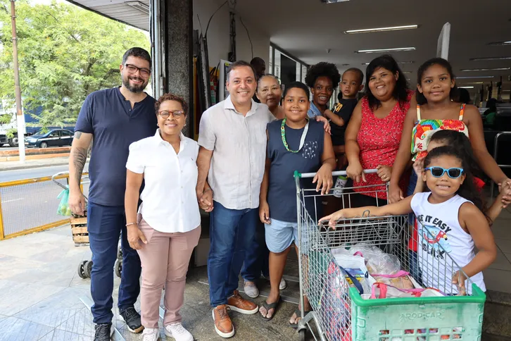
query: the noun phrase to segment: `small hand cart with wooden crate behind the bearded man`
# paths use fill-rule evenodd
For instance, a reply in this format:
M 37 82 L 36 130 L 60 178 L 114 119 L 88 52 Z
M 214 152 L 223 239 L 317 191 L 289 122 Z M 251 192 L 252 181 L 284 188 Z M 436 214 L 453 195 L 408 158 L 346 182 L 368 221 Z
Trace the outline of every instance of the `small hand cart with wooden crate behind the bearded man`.
M 51 180 L 53 180 L 53 182 L 55 182 L 63 190 L 68 190 L 68 187 L 66 185 L 58 181 L 63 178 L 69 178 L 69 172 L 56 173 L 51 177 Z M 82 175 L 82 180 L 80 180 L 80 187 L 82 187 L 83 185 L 88 185 L 89 183 L 90 183 L 89 175 L 85 173 L 84 175 Z M 87 196 L 84 197 L 87 205 Z M 70 225 L 72 240 L 75 242 L 75 247 L 88 247 L 89 232 L 87 231 L 87 209 L 84 210 L 83 216 L 77 216 L 76 214 L 71 213 Z M 118 245 L 117 259 L 115 260 L 113 268 L 115 275 L 117 275 L 120 278 L 122 273 L 122 249 L 120 247 L 120 244 Z M 80 261 L 77 270 L 77 273 L 80 276 L 80 278 L 90 278 L 91 271 L 92 261 Z

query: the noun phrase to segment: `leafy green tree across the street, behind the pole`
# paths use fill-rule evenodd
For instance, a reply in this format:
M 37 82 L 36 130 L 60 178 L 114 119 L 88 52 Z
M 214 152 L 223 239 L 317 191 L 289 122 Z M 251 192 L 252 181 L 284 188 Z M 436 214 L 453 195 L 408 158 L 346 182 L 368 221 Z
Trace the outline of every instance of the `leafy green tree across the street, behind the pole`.
M 0 99 L 14 103 L 8 0 L 0 0 Z M 16 1 L 20 85 L 25 113 L 42 109 L 39 125 L 75 123 L 87 94 L 120 85 L 122 54 L 149 51 L 144 32 L 71 4 Z

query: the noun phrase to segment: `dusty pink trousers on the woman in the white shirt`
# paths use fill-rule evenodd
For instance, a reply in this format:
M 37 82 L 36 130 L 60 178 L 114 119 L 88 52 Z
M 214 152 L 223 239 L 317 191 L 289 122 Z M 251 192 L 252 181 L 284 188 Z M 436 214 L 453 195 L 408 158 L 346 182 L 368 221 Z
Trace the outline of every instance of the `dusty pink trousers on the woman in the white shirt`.
M 141 322 L 146 328 L 158 328 L 161 292 L 165 286 L 165 316 L 163 325 L 180 322 L 179 310 L 184 301 L 188 264 L 191 252 L 201 237 L 201 227 L 186 233 L 162 233 L 144 219 L 140 230 L 147 239 L 138 250 L 142 265 L 140 290 Z

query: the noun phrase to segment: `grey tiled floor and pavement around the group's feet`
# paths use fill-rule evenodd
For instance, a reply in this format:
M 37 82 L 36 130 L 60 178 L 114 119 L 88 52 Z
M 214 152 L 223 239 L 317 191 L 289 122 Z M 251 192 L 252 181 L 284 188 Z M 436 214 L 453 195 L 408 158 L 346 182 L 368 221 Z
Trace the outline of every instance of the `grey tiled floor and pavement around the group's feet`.
M 486 286 L 488 290 L 511 292 L 510 209 L 498 218 L 493 233 L 499 255 L 485 271 Z M 89 249 L 74 246 L 68 226 L 1 241 L 0 341 L 92 340 L 92 315 L 80 301 L 80 297 L 89 297 L 90 282 L 77 276 L 78 264 L 87 259 L 90 259 Z M 291 263 L 286 271 L 296 271 L 296 264 Z M 189 272 L 182 309 L 184 325 L 196 340 L 222 340 L 213 330 L 206 278 L 205 267 Z M 115 278 L 115 286 L 118 284 L 119 279 Z M 503 318 L 488 329 L 492 332 L 510 325 L 506 316 L 511 316 L 511 302 L 498 292 L 488 292 L 488 301 L 499 302 L 496 314 Z M 283 294 L 297 297 L 298 285 L 290 283 Z M 260 304 L 263 299 L 259 297 L 255 302 Z M 294 309 L 295 304 L 284 302 L 271 322 L 258 316 L 232 313 L 236 325 L 232 340 L 297 340 L 298 335 L 287 325 Z M 117 313 L 115 311 L 114 325 L 122 336 L 126 340 L 141 340 L 140 335 L 129 333 L 124 323 L 118 321 Z M 163 333 L 162 338 L 165 340 Z

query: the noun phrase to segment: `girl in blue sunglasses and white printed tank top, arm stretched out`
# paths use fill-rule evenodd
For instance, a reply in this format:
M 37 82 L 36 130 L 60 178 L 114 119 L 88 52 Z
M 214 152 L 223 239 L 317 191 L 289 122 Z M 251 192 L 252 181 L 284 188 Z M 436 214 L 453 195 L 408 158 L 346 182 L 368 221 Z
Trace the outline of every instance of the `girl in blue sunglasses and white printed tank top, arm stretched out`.
M 486 291 L 482 271 L 496 259 L 497 249 L 490 219 L 484 213 L 483 200 L 474 185 L 467 161 L 453 147 L 438 147 L 432 149 L 424 159 L 421 176 L 431 192 L 415 193 L 386 206 L 342 209 L 321 218 L 320 222 L 335 228 L 337 221 L 366 215 L 365 211 L 369 211 L 370 216 L 398 216 L 413 212 L 418 217 L 419 226 L 427 226 L 429 233 L 441 235 L 436 240 L 439 245 L 433 245 L 427 233 L 419 231 L 419 263 L 421 259 L 426 259 L 427 252 L 441 247 L 462 268 L 462 271 L 447 274 L 452 275 L 452 287 L 438 289 L 446 294 L 471 294 L 472 287 L 466 283 L 468 276 L 472 283 Z M 476 249 L 479 250 L 477 254 Z M 419 279 L 424 286 L 434 287 L 433 283 L 442 283 L 441 278 L 435 276 L 446 273 L 445 270 L 439 269 L 434 273 L 422 271 L 422 278 Z

